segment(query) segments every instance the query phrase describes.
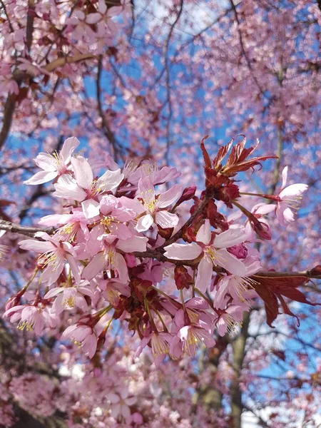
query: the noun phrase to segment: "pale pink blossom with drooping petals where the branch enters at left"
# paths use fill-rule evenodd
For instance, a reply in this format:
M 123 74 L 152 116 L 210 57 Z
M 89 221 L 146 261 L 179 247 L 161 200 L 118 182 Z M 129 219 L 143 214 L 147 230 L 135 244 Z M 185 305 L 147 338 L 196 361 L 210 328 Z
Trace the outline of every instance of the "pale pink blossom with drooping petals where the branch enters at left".
M 56 282 L 67 261 L 78 284 L 80 282 L 80 272 L 75 260 L 76 254 L 73 246 L 70 243 L 60 243 L 44 232 L 37 232 L 35 238 L 42 238 L 43 241 L 34 239 L 21 240 L 19 246 L 23 250 L 42 253 L 39 257 L 39 263 L 44 266 L 42 280 L 48 282 L 47 285 Z

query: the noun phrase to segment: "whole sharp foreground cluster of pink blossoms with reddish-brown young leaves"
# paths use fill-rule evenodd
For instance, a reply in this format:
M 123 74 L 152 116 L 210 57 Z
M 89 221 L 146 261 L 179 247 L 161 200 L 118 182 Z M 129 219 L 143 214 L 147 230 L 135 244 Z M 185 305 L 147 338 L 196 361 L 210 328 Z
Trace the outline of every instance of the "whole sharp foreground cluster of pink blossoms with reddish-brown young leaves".
M 255 275 L 262 266 L 253 243 L 272 235 L 266 215 L 291 223 L 307 190 L 301 183 L 286 186 L 285 168 L 279 193 L 260 195 L 269 203 L 243 207 L 235 175 L 274 157 L 249 158 L 258 144 L 245 148 L 245 138 L 235 146 L 230 141 L 210 161 L 203 140 L 205 190 L 199 197 L 195 185 L 168 184 L 180 175 L 176 168 L 149 161 L 120 168 L 108 157 L 108 170 L 95 175 L 95 161 L 77 153 L 78 146 L 71 137 L 60 152 L 39 153 L 41 171 L 25 182 L 54 180 L 63 213 L 41 218 L 46 229 L 19 242 L 21 250 L 38 254 L 31 278 L 6 305 L 4 316 L 19 329 L 41 335 L 68 311 L 61 339 L 73 340 L 92 358 L 120 320 L 141 339 L 136 356 L 148 346 L 160 362 L 215 346 L 214 332 L 233 334 L 258 297 L 266 307 L 270 298 L 279 299 L 291 315 L 282 295 L 310 304 L 295 289 L 302 278 L 291 294 L 285 280 Z M 184 222 L 178 207 L 192 200 Z M 218 203 L 239 211 L 224 215 Z M 277 306 L 267 311 L 268 324 L 277 313 Z

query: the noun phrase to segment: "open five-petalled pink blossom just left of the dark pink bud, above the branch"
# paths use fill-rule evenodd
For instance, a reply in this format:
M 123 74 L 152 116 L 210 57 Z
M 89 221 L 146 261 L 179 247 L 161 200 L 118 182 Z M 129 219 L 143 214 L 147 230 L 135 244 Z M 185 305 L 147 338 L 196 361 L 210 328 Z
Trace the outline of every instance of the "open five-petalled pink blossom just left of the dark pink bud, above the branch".
M 136 199 L 121 198 L 121 202 L 126 208 L 132 209 L 138 215 L 136 230 L 146 232 L 153 223 L 161 228 L 173 228 L 178 224 L 178 216 L 168 213 L 162 208 L 167 208 L 182 194 L 180 185 L 173 185 L 160 195 L 156 195 L 151 178 L 141 178 L 138 182 L 138 196 Z

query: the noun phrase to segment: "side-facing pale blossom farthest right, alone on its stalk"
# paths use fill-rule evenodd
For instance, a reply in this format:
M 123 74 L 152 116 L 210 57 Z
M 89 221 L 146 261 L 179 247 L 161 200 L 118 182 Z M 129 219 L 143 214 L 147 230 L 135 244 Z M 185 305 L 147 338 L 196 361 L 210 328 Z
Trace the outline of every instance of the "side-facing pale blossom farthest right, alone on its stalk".
M 297 183 L 285 187 L 287 183 L 287 166 L 282 170 L 282 186 L 280 193 L 277 195 L 277 206 L 275 213 L 277 220 L 282 226 L 286 223 L 292 223 L 295 220 L 295 211 L 298 210 L 302 199 L 302 193 L 307 190 L 306 184 Z

